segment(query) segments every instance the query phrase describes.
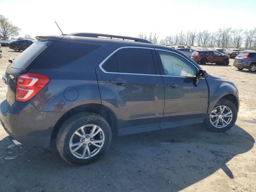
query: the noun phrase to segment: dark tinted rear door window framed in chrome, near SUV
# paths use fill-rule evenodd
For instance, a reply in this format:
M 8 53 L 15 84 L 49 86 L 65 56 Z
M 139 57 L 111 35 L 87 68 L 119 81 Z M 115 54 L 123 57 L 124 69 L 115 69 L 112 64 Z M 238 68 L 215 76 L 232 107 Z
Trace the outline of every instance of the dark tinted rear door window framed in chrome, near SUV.
M 144 48 L 120 49 L 102 64 L 102 68 L 107 72 L 156 74 L 152 51 Z

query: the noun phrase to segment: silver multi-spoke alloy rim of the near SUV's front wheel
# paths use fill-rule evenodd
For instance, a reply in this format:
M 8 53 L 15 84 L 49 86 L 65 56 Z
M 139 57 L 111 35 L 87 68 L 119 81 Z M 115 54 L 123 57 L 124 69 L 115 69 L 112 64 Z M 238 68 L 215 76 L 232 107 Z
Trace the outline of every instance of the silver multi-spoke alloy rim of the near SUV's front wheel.
M 232 111 L 227 106 L 218 106 L 210 114 L 210 123 L 216 128 L 223 128 L 232 121 Z

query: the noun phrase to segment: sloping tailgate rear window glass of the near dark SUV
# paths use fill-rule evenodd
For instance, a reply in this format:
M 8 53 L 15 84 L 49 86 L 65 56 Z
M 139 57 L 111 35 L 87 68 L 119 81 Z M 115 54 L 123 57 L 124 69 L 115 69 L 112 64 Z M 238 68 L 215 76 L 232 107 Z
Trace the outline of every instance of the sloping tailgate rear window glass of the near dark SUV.
M 22 69 L 27 66 L 40 52 L 47 48 L 51 44 L 51 41 L 37 41 L 29 46 L 25 51 L 22 52 L 15 60 L 13 60 L 10 67 Z

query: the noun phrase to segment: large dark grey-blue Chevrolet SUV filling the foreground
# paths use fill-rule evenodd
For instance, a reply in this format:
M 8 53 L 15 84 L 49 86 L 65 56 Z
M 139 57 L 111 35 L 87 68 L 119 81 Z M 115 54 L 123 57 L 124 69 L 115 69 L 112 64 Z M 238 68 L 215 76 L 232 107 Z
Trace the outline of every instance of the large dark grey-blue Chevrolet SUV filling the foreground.
M 124 36 L 38 36 L 12 61 L 0 120 L 10 138 L 48 147 L 66 162 L 98 160 L 112 134 L 205 122 L 225 132 L 236 122 L 234 83 L 210 76 L 185 54 Z

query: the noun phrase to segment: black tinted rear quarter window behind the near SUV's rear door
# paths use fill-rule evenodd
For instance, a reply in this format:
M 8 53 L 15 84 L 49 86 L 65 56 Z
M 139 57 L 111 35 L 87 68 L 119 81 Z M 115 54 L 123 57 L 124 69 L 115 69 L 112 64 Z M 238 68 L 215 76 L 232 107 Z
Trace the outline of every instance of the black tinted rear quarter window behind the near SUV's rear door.
M 36 44 L 36 43 L 34 43 Z M 32 44 L 31 46 L 33 46 Z M 30 47 L 31 47 L 30 46 Z M 33 69 L 58 68 L 77 60 L 100 48 L 98 44 L 58 41 L 34 65 Z

